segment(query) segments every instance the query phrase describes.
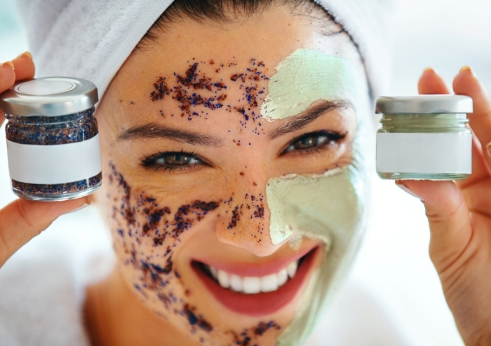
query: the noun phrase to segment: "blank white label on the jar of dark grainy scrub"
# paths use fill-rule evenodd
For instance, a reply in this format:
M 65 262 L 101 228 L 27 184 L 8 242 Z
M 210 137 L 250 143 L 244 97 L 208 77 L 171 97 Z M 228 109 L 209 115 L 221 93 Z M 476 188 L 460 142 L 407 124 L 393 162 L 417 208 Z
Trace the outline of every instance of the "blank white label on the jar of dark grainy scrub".
M 102 170 L 99 135 L 60 145 L 19 144 L 7 140 L 10 178 L 21 183 L 63 184 L 89 179 Z

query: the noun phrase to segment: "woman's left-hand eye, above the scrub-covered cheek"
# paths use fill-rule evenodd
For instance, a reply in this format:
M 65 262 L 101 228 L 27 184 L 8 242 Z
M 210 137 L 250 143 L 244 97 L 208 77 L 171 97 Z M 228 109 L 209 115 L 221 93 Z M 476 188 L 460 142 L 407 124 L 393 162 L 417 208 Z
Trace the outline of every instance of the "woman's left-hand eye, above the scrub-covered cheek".
M 173 171 L 176 169 L 192 169 L 196 165 L 203 164 L 203 161 L 189 152 L 159 152 L 158 154 L 145 156 L 141 164 L 144 167 Z

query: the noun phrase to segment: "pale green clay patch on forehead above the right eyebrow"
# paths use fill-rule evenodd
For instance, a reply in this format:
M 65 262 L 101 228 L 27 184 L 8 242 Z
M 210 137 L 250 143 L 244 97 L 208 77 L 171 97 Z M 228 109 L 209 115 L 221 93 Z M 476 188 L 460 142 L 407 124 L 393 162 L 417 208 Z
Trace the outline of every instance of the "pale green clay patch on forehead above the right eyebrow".
M 302 113 L 316 100 L 353 100 L 358 83 L 344 57 L 297 49 L 276 66 L 261 116 L 272 121 Z

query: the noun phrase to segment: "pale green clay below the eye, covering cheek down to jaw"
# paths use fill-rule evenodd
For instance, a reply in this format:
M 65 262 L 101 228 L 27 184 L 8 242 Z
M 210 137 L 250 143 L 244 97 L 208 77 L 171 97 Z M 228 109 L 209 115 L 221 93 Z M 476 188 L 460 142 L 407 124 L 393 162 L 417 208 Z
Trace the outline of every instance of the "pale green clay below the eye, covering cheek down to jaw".
M 308 336 L 322 313 L 335 282 L 346 272 L 362 234 L 363 176 L 354 167 L 336 168 L 321 175 L 291 175 L 270 179 L 266 190 L 274 244 L 293 233 L 322 239 L 326 259 L 309 283 L 297 318 L 281 334 L 279 345 Z

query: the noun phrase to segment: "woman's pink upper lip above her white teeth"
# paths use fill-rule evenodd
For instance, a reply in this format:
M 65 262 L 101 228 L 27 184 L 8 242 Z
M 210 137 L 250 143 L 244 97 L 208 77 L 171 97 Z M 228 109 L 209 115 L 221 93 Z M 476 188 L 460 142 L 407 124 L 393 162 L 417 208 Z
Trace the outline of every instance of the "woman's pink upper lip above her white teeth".
M 278 273 L 281 269 L 286 268 L 288 264 L 293 261 L 299 260 L 304 257 L 307 253 L 316 248 L 317 245 L 310 246 L 308 248 L 303 249 L 299 253 L 295 253 L 294 255 L 290 255 L 288 257 L 279 257 L 273 260 L 266 260 L 265 262 L 258 263 L 244 263 L 244 262 L 222 262 L 219 260 L 208 260 L 203 258 L 194 258 L 193 260 L 196 262 L 201 262 L 203 264 L 207 264 L 208 266 L 212 266 L 218 270 L 226 271 L 227 273 L 239 275 L 242 277 L 252 276 L 252 277 L 260 277 Z

